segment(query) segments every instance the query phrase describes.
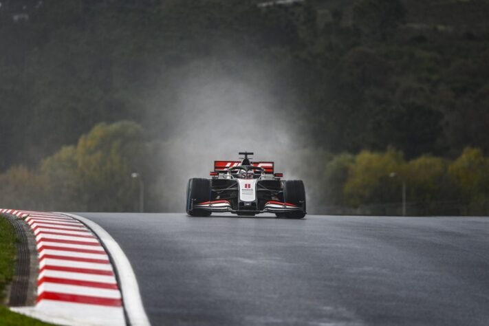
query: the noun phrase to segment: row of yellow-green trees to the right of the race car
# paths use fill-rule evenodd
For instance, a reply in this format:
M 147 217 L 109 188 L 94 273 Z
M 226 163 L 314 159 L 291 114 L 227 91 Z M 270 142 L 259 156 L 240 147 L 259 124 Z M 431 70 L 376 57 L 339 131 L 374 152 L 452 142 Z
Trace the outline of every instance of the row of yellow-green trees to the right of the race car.
M 320 182 L 310 195 L 329 213 L 400 215 L 404 184 L 408 215 L 489 215 L 489 157 L 477 148 L 454 160 L 405 160 L 395 149 L 343 153 L 327 162 Z

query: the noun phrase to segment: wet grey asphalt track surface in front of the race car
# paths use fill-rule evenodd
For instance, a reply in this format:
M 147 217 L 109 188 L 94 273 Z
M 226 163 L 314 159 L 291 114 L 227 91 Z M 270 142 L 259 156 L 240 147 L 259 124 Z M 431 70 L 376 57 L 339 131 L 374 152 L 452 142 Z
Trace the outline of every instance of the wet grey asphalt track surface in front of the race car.
M 489 325 L 489 218 L 78 213 L 153 325 Z

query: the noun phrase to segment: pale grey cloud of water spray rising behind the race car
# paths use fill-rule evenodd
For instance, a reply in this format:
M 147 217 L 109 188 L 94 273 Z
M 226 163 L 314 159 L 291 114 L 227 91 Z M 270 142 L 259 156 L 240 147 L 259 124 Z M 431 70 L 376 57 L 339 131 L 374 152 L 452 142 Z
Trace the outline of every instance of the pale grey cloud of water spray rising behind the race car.
M 284 75 L 270 62 L 213 58 L 164 78 L 153 102 L 159 120 L 150 123 L 162 126 L 155 164 L 162 166 L 158 184 L 167 210 L 184 209 L 189 178 L 208 177 L 214 160 L 236 160 L 239 151 L 274 161 L 287 179 L 301 178 L 305 131 L 294 119 L 294 94 L 277 74 Z

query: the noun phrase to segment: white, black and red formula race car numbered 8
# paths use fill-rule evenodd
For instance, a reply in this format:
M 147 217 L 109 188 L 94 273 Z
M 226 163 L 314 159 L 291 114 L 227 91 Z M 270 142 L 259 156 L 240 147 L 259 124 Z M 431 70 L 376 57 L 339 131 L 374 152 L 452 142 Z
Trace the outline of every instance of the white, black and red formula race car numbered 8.
M 211 179 L 188 180 L 186 211 L 191 216 L 230 212 L 241 216 L 275 213 L 276 217 L 302 219 L 305 188 L 302 180 L 281 180 L 274 162 L 215 161 Z

